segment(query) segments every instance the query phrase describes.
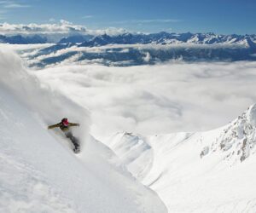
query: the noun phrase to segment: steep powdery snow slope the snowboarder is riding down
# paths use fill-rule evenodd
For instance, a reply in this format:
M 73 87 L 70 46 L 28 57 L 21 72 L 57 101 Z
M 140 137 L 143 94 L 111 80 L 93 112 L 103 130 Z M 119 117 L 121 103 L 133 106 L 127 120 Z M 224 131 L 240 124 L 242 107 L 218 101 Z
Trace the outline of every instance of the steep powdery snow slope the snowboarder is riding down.
M 46 130 L 58 113 L 79 119 L 86 112 L 57 94 L 51 99 L 47 89 L 39 93 L 19 58 L 0 54 L 0 212 L 166 212 L 102 143 L 78 131 L 84 146 L 74 155 L 58 130 Z M 83 118 L 77 121 L 86 132 Z

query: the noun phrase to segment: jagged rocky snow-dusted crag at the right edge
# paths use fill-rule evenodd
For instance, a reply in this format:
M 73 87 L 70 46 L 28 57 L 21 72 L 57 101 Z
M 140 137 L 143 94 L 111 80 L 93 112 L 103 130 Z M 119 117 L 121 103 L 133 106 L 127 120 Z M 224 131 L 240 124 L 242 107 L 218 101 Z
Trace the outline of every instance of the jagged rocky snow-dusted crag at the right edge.
M 225 159 L 229 160 L 231 164 L 236 164 L 255 153 L 255 145 L 256 105 L 253 105 L 227 125 L 217 140 L 205 149 L 209 149 L 210 153 L 224 153 Z

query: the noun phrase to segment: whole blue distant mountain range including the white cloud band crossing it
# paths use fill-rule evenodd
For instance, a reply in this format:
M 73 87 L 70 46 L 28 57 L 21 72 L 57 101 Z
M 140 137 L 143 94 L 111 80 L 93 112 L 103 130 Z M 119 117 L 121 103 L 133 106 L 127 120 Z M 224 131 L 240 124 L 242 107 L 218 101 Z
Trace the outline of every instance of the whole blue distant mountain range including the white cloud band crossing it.
M 136 66 L 169 60 L 237 61 L 255 60 L 255 35 L 215 35 L 213 33 L 123 33 L 119 35 L 34 35 L 0 36 L 0 42 L 20 44 L 21 57 L 29 66 L 62 63 Z M 55 37 L 59 37 L 56 40 Z M 61 38 L 60 38 L 61 37 Z M 55 41 L 55 42 L 53 42 Z M 22 44 L 43 43 L 28 49 Z M 45 48 L 46 43 L 49 45 Z M 32 51 L 30 51 L 32 50 Z M 23 53 L 25 53 L 23 55 Z

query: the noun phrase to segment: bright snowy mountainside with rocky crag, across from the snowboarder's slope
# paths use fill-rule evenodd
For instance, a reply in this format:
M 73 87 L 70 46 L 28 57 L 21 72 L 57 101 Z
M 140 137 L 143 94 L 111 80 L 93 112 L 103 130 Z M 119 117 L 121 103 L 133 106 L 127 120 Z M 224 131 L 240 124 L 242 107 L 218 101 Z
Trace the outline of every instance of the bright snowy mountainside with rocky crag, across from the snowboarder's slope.
M 145 158 L 144 152 L 126 158 L 130 150 L 140 150 L 134 138 L 148 146 L 153 154 L 148 152 L 145 168 L 153 163 L 143 183 L 160 194 L 170 212 L 255 212 L 255 124 L 253 105 L 218 130 L 148 137 L 120 133 L 108 144 L 128 169 Z

